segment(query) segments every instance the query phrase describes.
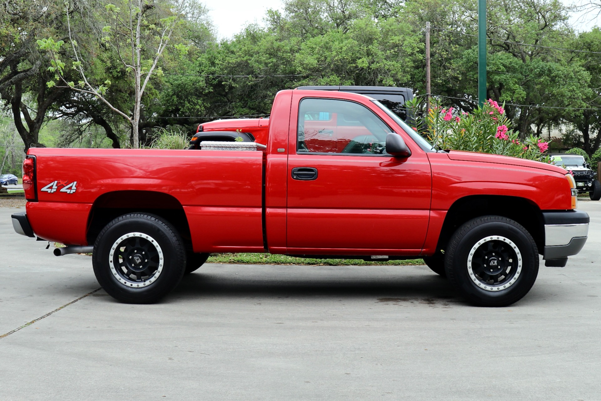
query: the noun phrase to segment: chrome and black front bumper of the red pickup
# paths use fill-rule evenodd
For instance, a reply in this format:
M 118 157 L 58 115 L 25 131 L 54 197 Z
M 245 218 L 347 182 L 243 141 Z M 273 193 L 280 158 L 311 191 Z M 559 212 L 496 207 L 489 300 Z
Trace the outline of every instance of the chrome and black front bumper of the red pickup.
M 580 252 L 588 238 L 588 214 L 581 210 L 543 212 L 545 250 L 543 259 L 566 259 Z

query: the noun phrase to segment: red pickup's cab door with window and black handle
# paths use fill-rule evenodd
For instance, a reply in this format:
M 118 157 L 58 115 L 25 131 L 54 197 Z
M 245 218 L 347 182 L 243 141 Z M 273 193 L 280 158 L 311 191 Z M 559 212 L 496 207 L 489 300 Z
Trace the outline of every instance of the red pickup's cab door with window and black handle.
M 432 192 L 426 153 L 406 139 L 409 158 L 386 154 L 394 130 L 376 105 L 303 95 L 293 94 L 290 118 L 287 252 L 419 254 Z M 307 141 L 326 129 L 335 135 Z

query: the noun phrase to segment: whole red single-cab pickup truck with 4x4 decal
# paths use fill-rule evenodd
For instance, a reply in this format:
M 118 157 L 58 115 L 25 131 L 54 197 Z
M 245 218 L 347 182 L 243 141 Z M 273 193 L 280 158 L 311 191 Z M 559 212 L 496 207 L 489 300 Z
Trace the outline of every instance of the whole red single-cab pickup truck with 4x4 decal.
M 284 90 L 268 122 L 266 147 L 242 150 L 31 148 L 14 228 L 66 244 L 57 255 L 93 251 L 106 292 L 136 303 L 209 253 L 267 251 L 423 257 L 469 301 L 502 306 L 528 293 L 539 254 L 565 266 L 587 240 L 555 165 L 437 150 L 361 94 Z

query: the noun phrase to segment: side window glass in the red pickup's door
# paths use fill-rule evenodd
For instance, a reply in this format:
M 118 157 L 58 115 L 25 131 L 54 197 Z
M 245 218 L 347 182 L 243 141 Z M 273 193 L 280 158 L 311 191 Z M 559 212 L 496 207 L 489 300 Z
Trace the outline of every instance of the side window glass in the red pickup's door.
M 297 153 L 385 154 L 392 130 L 370 109 L 337 99 L 302 99 Z

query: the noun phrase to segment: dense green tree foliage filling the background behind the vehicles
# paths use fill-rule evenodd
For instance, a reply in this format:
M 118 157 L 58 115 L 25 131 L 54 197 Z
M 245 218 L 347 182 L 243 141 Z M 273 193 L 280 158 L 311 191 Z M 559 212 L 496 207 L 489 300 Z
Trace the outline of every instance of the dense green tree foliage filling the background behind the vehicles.
M 40 99 L 53 99 L 42 115 L 66 118 L 82 132 L 90 130 L 89 121 L 102 127 L 108 123 L 117 132 L 109 129 L 106 135 L 118 144 L 115 138 L 130 135 L 124 121 L 136 114 L 132 66 L 138 61 L 133 54 L 140 52 L 142 72 L 150 72 L 157 38 L 166 26 L 174 26 L 169 46 L 139 100 L 139 134 L 147 145 L 152 132 L 148 127 L 266 115 L 278 90 L 299 85 L 391 85 L 423 94 L 425 21 L 435 26 L 432 93 L 447 99 L 445 109 L 453 106 L 459 117 L 460 111 L 477 106 L 475 0 L 284 0 L 284 11 L 267 11 L 265 26 L 248 25 L 219 42 L 206 8 L 185 3 L 189 8 L 180 14 L 165 0 L 142 5 L 129 0 L 70 3 L 72 43 L 64 39 L 69 35 L 63 0 L 44 2 L 44 7 L 32 0 L 0 7 L 0 60 L 23 53 L 17 63 L 21 70 L 38 61 L 42 66 L 28 78 L 22 109 L 37 109 L 39 81 L 46 93 Z M 567 124 L 569 145 L 593 155 L 601 144 L 601 57 L 557 48 L 601 52 L 600 29 L 576 33 L 567 25 L 569 9 L 556 0 L 488 0 L 487 9 L 487 95 L 505 102 L 510 134 L 530 147 L 532 138 L 549 127 Z M 129 17 L 138 15 L 139 46 L 128 26 Z M 79 61 L 73 57 L 75 50 L 82 55 Z M 11 74 L 7 65 L 0 62 L 0 91 Z M 81 72 L 126 117 L 115 117 L 88 94 L 66 94 L 86 87 Z M 14 88 L 5 88 L 2 96 L 11 93 Z M 492 144 L 500 146 L 498 141 Z

